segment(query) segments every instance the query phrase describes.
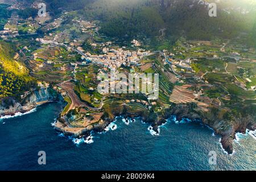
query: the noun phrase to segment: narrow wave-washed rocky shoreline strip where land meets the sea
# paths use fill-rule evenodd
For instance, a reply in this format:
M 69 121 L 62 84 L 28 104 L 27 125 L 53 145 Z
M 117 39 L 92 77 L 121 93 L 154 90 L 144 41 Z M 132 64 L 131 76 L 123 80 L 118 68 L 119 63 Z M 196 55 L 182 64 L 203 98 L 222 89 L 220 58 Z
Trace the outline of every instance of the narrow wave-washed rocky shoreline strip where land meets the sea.
M 60 101 L 42 101 L 42 102 L 37 102 L 33 107 L 31 107 L 31 109 L 28 110 L 22 110 L 22 111 L 17 111 L 15 113 L 11 113 L 11 114 L 6 114 L 6 115 L 1 115 L 0 116 L 0 121 L 4 120 L 4 119 L 9 119 L 9 118 L 14 118 L 14 117 L 19 117 L 22 115 L 26 115 L 26 114 L 30 114 L 36 111 L 36 108 L 40 105 L 44 105 L 44 104 L 48 104 L 50 102 L 56 102 L 61 104 Z M 60 112 L 61 113 L 61 112 Z M 234 137 L 232 139 L 232 144 L 230 146 L 230 144 L 226 144 L 227 140 L 226 140 L 226 136 L 224 134 L 219 133 L 217 130 L 214 130 L 213 127 L 210 127 L 207 123 L 203 122 L 203 119 L 201 119 L 199 121 L 199 119 L 195 118 L 195 119 L 190 119 L 188 117 L 181 117 L 178 116 L 176 114 L 171 114 L 168 113 L 167 115 L 169 115 L 169 117 L 167 118 L 160 118 L 158 119 L 157 122 L 155 121 L 148 121 L 148 119 L 143 118 L 143 116 L 141 114 L 130 114 L 130 113 L 126 113 L 126 114 L 119 114 L 119 115 L 115 115 L 114 119 L 109 119 L 109 118 L 105 118 L 104 120 L 102 120 L 101 125 L 98 125 L 97 127 L 90 127 L 90 125 L 88 127 L 85 128 L 73 128 L 73 132 L 69 131 L 69 130 L 65 130 L 64 128 L 67 127 L 64 123 L 60 122 L 59 120 L 61 119 L 56 118 L 56 122 L 54 122 L 53 128 L 56 131 L 59 131 L 60 133 L 63 133 L 65 136 L 69 136 L 69 137 L 74 137 L 75 139 L 81 139 L 81 138 L 88 138 L 90 136 L 91 131 L 96 131 L 97 133 L 102 133 L 105 131 L 105 129 L 107 129 L 109 127 L 109 125 L 111 125 L 112 123 L 114 123 L 116 121 L 117 117 L 122 117 L 124 119 L 134 119 L 134 118 L 141 118 L 142 123 L 148 123 L 148 131 L 150 131 L 151 135 L 155 135 L 158 136 L 160 134 L 160 127 L 165 125 L 168 122 L 168 119 L 172 118 L 174 120 L 174 122 L 176 123 L 180 123 L 183 122 L 183 120 L 185 121 L 189 121 L 189 122 L 199 122 L 200 125 L 206 126 L 208 127 L 208 129 L 212 130 L 214 132 L 214 135 L 220 135 L 220 145 L 222 150 L 224 151 L 224 153 L 226 155 L 233 155 L 235 153 L 235 151 L 233 150 L 233 142 L 236 142 L 236 136 L 237 134 L 243 134 L 246 135 L 247 133 L 255 133 L 255 130 L 252 129 L 247 129 L 245 130 L 245 132 L 241 132 L 241 131 L 236 131 L 234 133 Z M 186 122 L 186 123 L 189 123 Z M 72 129 L 69 127 L 69 129 Z M 252 136 L 251 136 L 252 137 Z M 253 137 L 254 139 L 256 138 Z M 232 148 L 230 148 L 232 147 Z

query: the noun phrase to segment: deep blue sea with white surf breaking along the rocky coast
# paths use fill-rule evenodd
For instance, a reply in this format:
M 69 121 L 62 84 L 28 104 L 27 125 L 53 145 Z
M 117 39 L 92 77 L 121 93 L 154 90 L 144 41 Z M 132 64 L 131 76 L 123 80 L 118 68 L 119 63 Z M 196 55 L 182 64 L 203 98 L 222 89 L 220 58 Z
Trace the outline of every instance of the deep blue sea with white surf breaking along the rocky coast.
M 0 170 L 256 170 L 256 140 L 238 134 L 234 154 L 222 150 L 220 136 L 197 122 L 168 119 L 159 135 L 136 118 L 117 118 L 104 133 L 75 140 L 57 133 L 52 123 L 61 106 L 49 103 L 30 114 L 0 121 Z M 46 152 L 46 165 L 38 152 Z M 209 152 L 217 154 L 209 164 Z

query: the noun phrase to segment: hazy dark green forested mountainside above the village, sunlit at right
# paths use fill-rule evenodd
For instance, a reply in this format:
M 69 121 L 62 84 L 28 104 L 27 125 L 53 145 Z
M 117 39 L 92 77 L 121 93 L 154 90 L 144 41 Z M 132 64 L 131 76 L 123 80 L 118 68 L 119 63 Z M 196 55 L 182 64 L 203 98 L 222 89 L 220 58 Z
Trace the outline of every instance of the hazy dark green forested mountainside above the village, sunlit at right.
M 163 35 L 163 32 L 166 36 L 186 36 L 188 39 L 205 40 L 212 36 L 233 38 L 240 32 L 255 35 L 255 9 L 246 14 L 236 11 L 235 7 L 228 11 L 226 7 L 242 5 L 233 3 L 234 1 L 225 1 L 218 4 L 217 17 L 210 17 L 208 6 L 200 5 L 198 2 L 97 0 L 86 5 L 80 12 L 86 18 L 101 20 L 101 32 L 118 38 L 133 38 L 138 35 L 152 37 Z

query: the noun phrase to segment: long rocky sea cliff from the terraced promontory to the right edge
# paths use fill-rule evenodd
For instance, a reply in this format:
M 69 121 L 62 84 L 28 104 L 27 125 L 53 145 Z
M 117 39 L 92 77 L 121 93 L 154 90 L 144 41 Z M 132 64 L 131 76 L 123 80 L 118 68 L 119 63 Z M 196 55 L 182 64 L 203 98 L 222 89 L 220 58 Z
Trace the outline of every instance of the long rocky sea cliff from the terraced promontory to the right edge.
M 172 105 L 170 108 L 162 109 L 162 111 L 155 113 L 154 110 L 148 110 L 144 107 L 135 107 L 125 104 L 124 102 L 113 102 L 110 105 L 104 105 L 101 117 L 101 122 L 94 125 L 89 125 L 86 128 L 74 128 L 69 126 L 69 122 L 65 119 L 59 118 L 55 125 L 55 129 L 62 131 L 64 134 L 81 137 L 86 135 L 89 131 L 102 132 L 104 129 L 114 121 L 115 117 L 122 115 L 125 118 L 141 117 L 143 122 L 152 126 L 152 129 L 158 133 L 159 126 L 167 122 L 168 118 L 175 115 L 177 121 L 184 118 L 191 121 L 201 122 L 209 126 L 220 135 L 222 147 L 228 154 L 233 153 L 233 140 L 236 138 L 236 133 L 246 133 L 246 129 L 256 130 L 256 113 L 255 107 L 243 108 L 243 113 L 232 113 L 229 110 L 210 106 L 208 111 L 202 110 L 195 103 Z M 66 117 L 73 121 L 73 118 Z

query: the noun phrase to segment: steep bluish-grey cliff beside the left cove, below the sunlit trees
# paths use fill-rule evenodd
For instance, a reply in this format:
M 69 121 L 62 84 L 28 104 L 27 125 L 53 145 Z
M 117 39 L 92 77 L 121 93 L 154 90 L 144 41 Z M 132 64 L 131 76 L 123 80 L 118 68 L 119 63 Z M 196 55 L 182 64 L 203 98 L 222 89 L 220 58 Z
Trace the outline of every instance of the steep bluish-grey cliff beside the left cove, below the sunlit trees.
M 25 113 L 34 109 L 37 105 L 61 100 L 63 100 L 63 98 L 52 88 L 40 88 L 38 90 L 33 90 L 21 101 L 16 101 L 13 97 L 0 100 L 0 115 Z

